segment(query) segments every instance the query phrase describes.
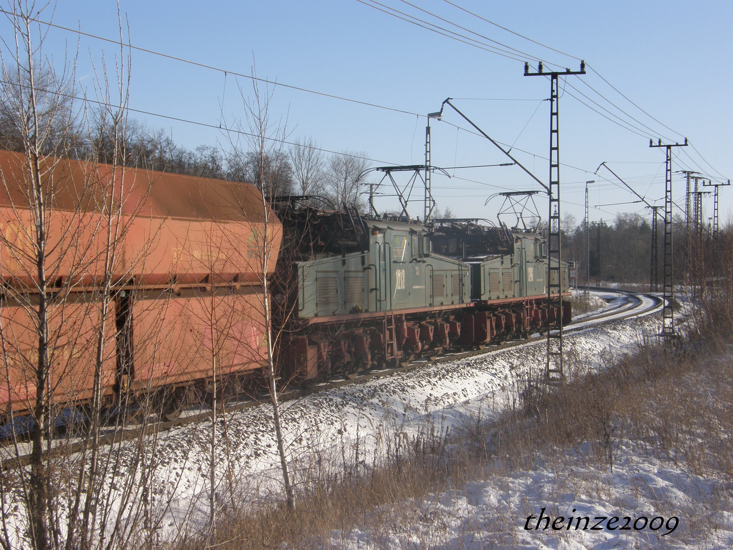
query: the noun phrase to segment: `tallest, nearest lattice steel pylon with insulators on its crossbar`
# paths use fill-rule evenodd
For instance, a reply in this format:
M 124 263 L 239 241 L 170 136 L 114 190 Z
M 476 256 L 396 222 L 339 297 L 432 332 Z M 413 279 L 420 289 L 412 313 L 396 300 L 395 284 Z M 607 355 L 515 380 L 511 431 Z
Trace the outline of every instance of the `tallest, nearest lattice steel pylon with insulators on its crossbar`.
M 548 190 L 548 307 L 557 312 L 554 320 L 548 320 L 547 362 L 545 380 L 559 384 L 564 381 L 562 350 L 562 270 L 560 234 L 560 128 L 559 128 L 559 77 L 584 75 L 586 63 L 581 61 L 581 70 L 545 72 L 542 62 L 537 73 L 529 72 L 524 64 L 524 76 L 550 77 L 550 186 Z

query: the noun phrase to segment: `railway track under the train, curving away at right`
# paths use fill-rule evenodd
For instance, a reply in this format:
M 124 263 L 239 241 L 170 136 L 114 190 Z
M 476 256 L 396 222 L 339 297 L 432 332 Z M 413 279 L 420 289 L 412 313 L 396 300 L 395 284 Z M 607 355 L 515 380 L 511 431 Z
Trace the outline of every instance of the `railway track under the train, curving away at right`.
M 662 298 L 653 294 L 638 293 L 631 290 L 619 290 L 615 288 L 600 288 L 592 287 L 594 291 L 602 291 L 604 293 L 615 293 L 625 297 L 625 299 L 611 309 L 605 309 L 603 312 L 597 314 L 590 314 L 582 317 L 569 326 L 564 327 L 564 332 L 575 332 L 584 329 L 589 329 L 592 326 L 597 326 L 601 323 L 607 323 L 612 320 L 622 320 L 633 317 L 641 317 L 643 315 L 649 315 L 656 312 L 662 306 Z M 377 378 L 386 378 L 389 376 L 397 375 L 398 373 L 404 373 L 408 370 L 413 370 L 419 367 L 423 367 L 428 364 L 438 364 L 444 362 L 456 361 L 459 359 L 466 359 L 468 357 L 479 356 L 485 353 L 493 353 L 495 351 L 501 351 L 508 348 L 513 348 L 519 345 L 526 345 L 538 340 L 545 339 L 543 334 L 533 334 L 531 337 L 522 340 L 509 340 L 502 342 L 501 344 L 486 345 L 478 349 L 471 351 L 463 351 L 458 353 L 448 353 L 442 356 L 437 356 L 430 359 L 416 359 L 411 362 L 405 362 L 399 365 L 399 367 L 386 368 L 380 370 L 368 370 L 364 373 L 358 373 L 356 375 L 350 375 L 345 378 L 337 378 L 328 382 L 315 384 L 308 389 L 290 389 L 281 392 L 279 397 L 280 400 L 294 400 L 306 395 L 312 395 L 317 392 L 326 392 L 331 389 L 336 389 L 342 386 L 350 384 L 359 384 L 369 380 L 375 380 Z M 235 412 L 245 408 L 256 407 L 264 403 L 268 403 L 270 400 L 268 395 L 260 395 L 257 398 L 251 398 L 247 400 L 233 400 L 227 403 L 224 407 L 223 412 Z M 175 428 L 181 425 L 187 425 L 195 422 L 204 422 L 210 419 L 210 411 L 202 411 L 201 408 L 196 410 L 189 410 L 188 414 L 183 414 L 181 417 L 173 421 L 165 422 L 150 422 L 149 424 L 143 424 L 141 426 L 124 427 L 124 428 L 110 428 L 109 432 L 103 434 L 100 439 L 100 444 L 109 445 L 119 443 L 120 441 L 136 439 L 140 436 L 152 435 L 152 433 L 163 432 L 171 428 Z M 58 446 L 51 449 L 51 455 L 60 455 L 62 453 L 69 454 L 74 452 L 81 452 L 84 450 L 86 444 L 83 441 L 73 441 L 70 443 L 63 442 Z M 6 450 L 12 449 L 12 446 L 8 445 L 5 447 Z M 1 452 L 1 451 L 0 451 Z M 3 457 L 0 455 L 1 469 L 7 470 L 18 466 L 25 466 L 30 461 L 30 455 L 21 455 L 20 457 Z

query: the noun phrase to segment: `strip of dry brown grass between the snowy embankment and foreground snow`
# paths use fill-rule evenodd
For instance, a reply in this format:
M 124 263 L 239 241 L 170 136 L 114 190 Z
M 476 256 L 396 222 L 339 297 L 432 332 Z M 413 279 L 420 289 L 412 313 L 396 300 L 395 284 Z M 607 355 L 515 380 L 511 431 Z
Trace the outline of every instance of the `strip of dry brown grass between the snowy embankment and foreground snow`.
M 570 470 L 569 461 L 612 471 L 624 441 L 690 474 L 733 480 L 732 346 L 721 337 L 647 346 L 632 356 L 606 357 L 600 373 L 578 358 L 567 385 L 524 381 L 520 400 L 496 421 L 474 418 L 460 435 L 435 429 L 385 434 L 394 444 L 383 461 L 367 466 L 357 453 L 320 471 L 300 486 L 294 513 L 262 501 L 232 511 L 218 527 L 216 548 L 323 548 L 329 532 L 357 525 L 394 532 L 418 513 L 416 502 L 427 494 L 469 480 L 535 469 L 538 461 L 556 463 L 559 471 Z M 324 459 L 314 452 L 312 461 Z M 559 485 L 571 481 L 579 483 L 556 478 Z M 696 522 L 688 523 L 702 529 L 711 506 L 727 509 L 724 493 L 709 495 Z M 196 538 L 181 545 L 204 547 Z

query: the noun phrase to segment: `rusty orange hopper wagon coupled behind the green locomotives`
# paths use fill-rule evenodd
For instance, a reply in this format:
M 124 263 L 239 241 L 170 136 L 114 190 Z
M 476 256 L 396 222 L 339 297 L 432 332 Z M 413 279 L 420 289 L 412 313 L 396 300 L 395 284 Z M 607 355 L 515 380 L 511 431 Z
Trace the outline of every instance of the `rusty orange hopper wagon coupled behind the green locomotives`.
M 89 401 L 97 365 L 113 403 L 205 391 L 214 373 L 266 362 L 262 281 L 275 269 L 281 224 L 255 186 L 44 158 L 34 194 L 33 173 L 25 155 L 0 151 L 2 411 L 35 403 L 37 227 L 54 404 Z

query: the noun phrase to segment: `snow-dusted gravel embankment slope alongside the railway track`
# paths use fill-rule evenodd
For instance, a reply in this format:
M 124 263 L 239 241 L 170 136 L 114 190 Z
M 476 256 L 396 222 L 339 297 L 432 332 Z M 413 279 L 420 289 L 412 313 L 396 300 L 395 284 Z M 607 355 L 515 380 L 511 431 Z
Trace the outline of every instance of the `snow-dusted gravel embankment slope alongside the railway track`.
M 569 357 L 585 358 L 586 367 L 595 368 L 612 355 L 631 351 L 644 334 L 658 331 L 658 324 L 658 315 L 650 315 L 583 329 L 567 334 L 566 350 Z M 539 340 L 284 403 L 295 480 L 303 482 L 320 469 L 336 468 L 344 450 L 358 452 L 357 460 L 371 463 L 376 450 L 383 451 L 390 434 L 398 430 L 457 428 L 465 421 L 465 411 L 477 406 L 483 416 L 492 417 L 516 400 L 517 383 L 544 367 L 545 342 Z M 221 491 L 226 480 L 233 479 L 240 480 L 237 490 L 249 496 L 281 494 L 270 406 L 226 414 L 218 433 Z M 158 452 L 166 464 L 159 475 L 171 497 L 164 530 L 173 535 L 184 518 L 205 521 L 210 425 L 185 425 L 160 437 Z

